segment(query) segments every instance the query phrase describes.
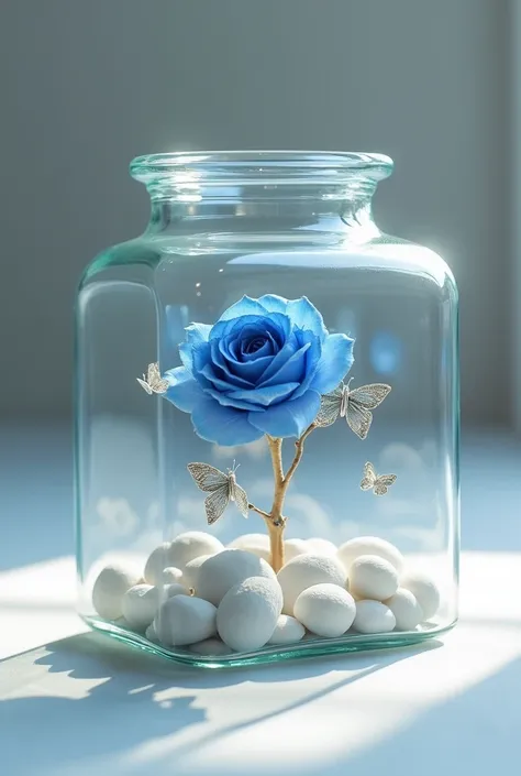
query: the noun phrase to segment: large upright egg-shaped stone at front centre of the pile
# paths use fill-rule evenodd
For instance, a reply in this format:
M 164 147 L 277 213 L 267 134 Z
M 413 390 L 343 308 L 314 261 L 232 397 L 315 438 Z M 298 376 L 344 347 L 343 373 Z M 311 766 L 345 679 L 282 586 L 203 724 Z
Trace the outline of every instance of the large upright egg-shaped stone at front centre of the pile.
M 281 609 L 282 591 L 275 576 L 251 577 L 231 588 L 219 604 L 219 635 L 236 652 L 259 649 L 273 635 Z

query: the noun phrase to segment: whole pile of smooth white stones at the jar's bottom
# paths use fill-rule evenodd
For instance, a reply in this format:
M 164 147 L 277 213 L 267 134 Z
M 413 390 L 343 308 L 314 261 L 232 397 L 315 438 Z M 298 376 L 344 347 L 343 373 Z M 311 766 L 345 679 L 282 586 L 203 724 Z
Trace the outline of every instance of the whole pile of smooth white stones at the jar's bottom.
M 224 547 L 202 532 L 180 534 L 148 557 L 142 579 L 107 566 L 92 589 L 100 617 L 165 647 L 201 655 L 252 652 L 310 636 L 414 631 L 440 606 L 425 573 L 407 570 L 401 553 L 376 536 L 336 548 L 325 539 L 288 539 L 278 575 L 267 536 Z

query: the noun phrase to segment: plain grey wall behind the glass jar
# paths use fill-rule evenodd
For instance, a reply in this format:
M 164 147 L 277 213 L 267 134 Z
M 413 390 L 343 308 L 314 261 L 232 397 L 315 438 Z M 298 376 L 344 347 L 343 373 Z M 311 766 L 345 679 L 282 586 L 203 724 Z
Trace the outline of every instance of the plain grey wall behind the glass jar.
M 69 416 L 77 278 L 147 218 L 134 155 L 295 147 L 393 157 L 378 221 L 447 259 L 464 417 L 508 422 L 508 26 L 507 0 L 3 0 L 0 415 Z

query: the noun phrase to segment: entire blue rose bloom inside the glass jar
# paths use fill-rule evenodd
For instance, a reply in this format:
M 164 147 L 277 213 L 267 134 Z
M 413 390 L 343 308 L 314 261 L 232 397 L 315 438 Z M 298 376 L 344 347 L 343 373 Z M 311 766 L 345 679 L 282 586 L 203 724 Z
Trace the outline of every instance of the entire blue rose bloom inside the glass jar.
M 299 437 L 353 363 L 353 341 L 330 335 L 303 296 L 248 296 L 214 326 L 191 324 L 182 367 L 166 373 L 166 397 L 191 413 L 196 433 L 219 445 Z

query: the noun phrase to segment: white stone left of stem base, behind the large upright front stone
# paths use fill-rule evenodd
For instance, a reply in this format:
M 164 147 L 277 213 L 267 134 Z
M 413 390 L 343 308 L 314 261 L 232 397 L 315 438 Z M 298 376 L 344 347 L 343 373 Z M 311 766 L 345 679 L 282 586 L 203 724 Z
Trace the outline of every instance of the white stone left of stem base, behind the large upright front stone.
M 199 568 L 197 595 L 218 605 L 231 588 L 250 577 L 275 579 L 275 571 L 263 558 L 252 553 L 225 549 L 207 558 Z

